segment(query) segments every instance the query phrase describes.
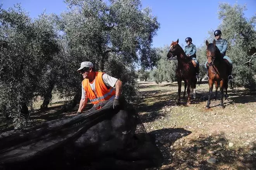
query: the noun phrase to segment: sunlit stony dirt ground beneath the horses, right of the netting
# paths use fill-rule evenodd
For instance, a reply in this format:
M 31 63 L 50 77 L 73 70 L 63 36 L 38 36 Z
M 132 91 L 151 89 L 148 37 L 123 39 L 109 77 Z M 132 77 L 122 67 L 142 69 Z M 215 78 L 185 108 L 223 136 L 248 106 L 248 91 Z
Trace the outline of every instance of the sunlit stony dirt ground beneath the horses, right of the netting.
M 256 92 L 228 89 L 225 109 L 218 106 L 218 92 L 206 109 L 208 84 L 197 85 L 196 99 L 189 106 L 186 100 L 176 105 L 177 83 L 139 85 L 141 99 L 135 105 L 164 155 L 163 165 L 154 169 L 256 169 Z

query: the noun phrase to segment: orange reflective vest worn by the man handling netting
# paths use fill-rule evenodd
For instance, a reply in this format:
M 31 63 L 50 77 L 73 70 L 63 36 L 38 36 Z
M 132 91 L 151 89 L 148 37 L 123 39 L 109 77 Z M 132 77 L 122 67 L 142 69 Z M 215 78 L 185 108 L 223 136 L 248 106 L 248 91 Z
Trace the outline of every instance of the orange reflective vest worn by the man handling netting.
M 111 100 L 114 99 L 116 90 L 113 87 L 109 89 L 106 87 L 105 83 L 103 82 L 102 75 L 104 73 L 96 71 L 95 74 L 95 92 L 93 92 L 90 84 L 89 79 L 85 78 L 82 82 L 83 89 L 85 89 L 87 97 L 90 99 L 92 104 L 98 104 L 100 101 L 104 100 Z

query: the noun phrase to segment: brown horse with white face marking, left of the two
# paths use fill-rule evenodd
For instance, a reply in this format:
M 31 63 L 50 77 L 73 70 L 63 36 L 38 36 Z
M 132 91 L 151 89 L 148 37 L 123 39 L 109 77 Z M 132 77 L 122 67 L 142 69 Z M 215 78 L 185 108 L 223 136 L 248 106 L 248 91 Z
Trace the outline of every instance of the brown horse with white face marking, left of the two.
M 186 88 L 188 93 L 188 101 L 187 104 L 190 104 L 190 86 L 191 88 L 195 89 L 196 85 L 196 69 L 194 64 L 192 63 L 192 59 L 188 57 L 183 49 L 178 44 L 179 39 L 177 41 L 173 41 L 171 43 L 169 52 L 167 54 L 168 59 L 178 59 L 178 67 L 176 69 L 176 76 L 178 81 L 178 102 L 180 104 L 180 92 L 181 92 L 181 85 L 182 80 L 184 81 L 184 93 L 183 98 L 185 99 Z M 176 57 L 175 57 L 176 56 Z M 195 98 L 195 90 L 194 90 L 194 98 Z

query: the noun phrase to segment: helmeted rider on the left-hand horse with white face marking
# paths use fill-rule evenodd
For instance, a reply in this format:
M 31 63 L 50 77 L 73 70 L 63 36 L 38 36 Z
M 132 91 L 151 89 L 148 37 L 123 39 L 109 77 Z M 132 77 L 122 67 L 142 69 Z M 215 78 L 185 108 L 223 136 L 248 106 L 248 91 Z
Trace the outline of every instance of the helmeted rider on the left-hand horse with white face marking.
M 187 46 L 185 46 L 185 48 L 183 49 L 185 54 L 187 56 L 189 56 L 191 59 L 193 59 L 196 63 L 196 72 L 197 72 L 197 75 L 199 74 L 199 64 L 198 64 L 198 61 L 196 59 L 196 47 L 195 45 L 192 43 L 192 38 L 190 37 L 187 37 L 185 39 L 185 42 L 187 43 Z

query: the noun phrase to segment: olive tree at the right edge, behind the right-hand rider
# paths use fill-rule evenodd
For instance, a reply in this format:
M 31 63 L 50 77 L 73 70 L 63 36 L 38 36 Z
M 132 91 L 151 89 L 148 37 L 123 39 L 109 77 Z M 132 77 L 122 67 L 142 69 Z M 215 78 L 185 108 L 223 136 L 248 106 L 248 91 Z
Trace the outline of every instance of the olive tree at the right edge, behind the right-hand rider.
M 250 59 L 255 63 L 249 51 L 256 47 L 256 15 L 251 19 L 244 17 L 245 6 L 221 3 L 218 16 L 222 20 L 220 29 L 222 37 L 228 40 L 227 56 L 233 61 L 235 86 L 249 89 L 256 87 L 256 66 L 246 65 Z

